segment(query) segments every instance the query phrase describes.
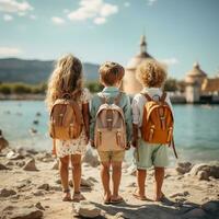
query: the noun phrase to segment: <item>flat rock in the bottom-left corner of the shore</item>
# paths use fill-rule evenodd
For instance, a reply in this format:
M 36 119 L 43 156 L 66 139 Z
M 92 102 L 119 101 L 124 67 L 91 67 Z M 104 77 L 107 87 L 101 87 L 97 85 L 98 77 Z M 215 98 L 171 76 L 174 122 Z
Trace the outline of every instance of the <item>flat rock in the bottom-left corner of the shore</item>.
M 10 216 L 10 217 L 8 217 Z M 13 208 L 13 210 L 4 210 L 2 212 L 2 218 L 9 219 L 41 219 L 43 218 L 43 212 L 36 207 L 27 208 Z

